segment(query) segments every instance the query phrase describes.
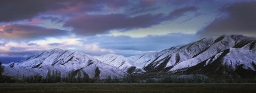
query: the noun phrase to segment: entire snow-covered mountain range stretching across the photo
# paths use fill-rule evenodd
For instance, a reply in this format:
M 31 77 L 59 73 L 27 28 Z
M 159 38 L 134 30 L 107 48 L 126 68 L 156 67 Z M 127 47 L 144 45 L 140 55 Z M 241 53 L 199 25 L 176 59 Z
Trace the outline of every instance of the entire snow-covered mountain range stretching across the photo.
M 256 38 L 223 35 L 200 39 L 187 45 L 170 47 L 160 52 L 147 52 L 131 57 L 108 54 L 91 56 L 55 48 L 32 55 L 19 62 L 3 64 L 4 74 L 10 76 L 46 76 L 49 70 L 81 71 L 90 78 L 125 75 L 239 75 L 256 76 Z

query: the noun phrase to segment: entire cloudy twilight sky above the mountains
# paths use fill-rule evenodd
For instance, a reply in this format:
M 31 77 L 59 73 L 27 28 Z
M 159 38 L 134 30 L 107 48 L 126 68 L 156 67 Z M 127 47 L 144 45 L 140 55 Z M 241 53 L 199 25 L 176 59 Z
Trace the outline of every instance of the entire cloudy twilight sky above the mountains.
M 255 30 L 249 0 L 0 0 L 0 61 L 52 48 L 129 57 Z

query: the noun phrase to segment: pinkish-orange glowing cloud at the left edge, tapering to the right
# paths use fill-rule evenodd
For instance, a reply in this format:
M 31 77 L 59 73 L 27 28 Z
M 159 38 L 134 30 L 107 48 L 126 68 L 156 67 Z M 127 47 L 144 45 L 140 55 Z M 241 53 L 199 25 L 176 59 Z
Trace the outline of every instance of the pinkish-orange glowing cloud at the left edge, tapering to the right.
M 9 24 L 0 26 L 0 36 L 5 39 L 44 39 L 46 37 L 68 35 L 68 31 L 36 25 Z

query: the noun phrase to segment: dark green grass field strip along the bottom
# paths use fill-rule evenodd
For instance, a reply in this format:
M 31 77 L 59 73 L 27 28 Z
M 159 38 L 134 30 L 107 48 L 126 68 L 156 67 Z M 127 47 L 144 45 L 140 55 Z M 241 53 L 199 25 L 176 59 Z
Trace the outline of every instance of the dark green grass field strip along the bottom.
M 256 92 L 230 83 L 0 83 L 0 92 Z

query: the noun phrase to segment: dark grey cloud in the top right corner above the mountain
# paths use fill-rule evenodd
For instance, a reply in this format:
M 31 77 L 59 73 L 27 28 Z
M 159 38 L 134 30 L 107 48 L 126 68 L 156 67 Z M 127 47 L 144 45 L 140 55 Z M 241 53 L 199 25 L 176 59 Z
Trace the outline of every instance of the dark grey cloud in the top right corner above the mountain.
M 256 1 L 235 3 L 223 7 L 227 17 L 216 18 L 211 24 L 197 32 L 200 36 L 221 34 L 243 34 L 256 36 Z

